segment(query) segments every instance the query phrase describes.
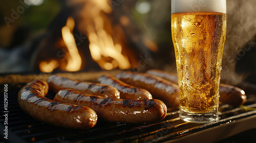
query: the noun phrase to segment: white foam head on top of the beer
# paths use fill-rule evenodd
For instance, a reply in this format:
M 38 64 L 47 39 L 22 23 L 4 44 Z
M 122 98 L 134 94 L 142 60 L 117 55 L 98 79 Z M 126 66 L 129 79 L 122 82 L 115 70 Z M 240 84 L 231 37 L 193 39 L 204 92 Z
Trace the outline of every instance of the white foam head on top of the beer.
M 172 13 L 181 12 L 226 13 L 226 0 L 172 0 Z

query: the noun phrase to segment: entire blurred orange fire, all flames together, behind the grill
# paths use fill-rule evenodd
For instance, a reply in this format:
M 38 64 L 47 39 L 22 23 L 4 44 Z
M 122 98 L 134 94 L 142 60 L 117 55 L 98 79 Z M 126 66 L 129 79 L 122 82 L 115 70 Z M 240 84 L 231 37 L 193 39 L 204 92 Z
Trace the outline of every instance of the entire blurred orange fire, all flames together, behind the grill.
M 69 1 L 71 4 L 80 2 Z M 114 24 L 113 10 L 109 0 L 84 0 L 76 14 L 76 17 L 78 17 L 76 19 L 77 23 L 75 24 L 75 20 L 69 17 L 66 26 L 61 29 L 63 38 L 61 41 L 67 47 L 67 52 L 65 52 L 66 61 L 60 59 L 41 61 L 39 64 L 41 71 L 51 73 L 56 68 L 65 71 L 78 71 L 81 67 L 84 67 L 85 61 L 82 61 L 73 35 L 75 25 L 77 30 L 81 32 L 80 34 L 87 35 L 92 60 L 97 62 L 102 69 L 129 69 L 138 65 L 138 53 L 130 49 L 122 28 L 122 26 L 130 26 L 130 19 L 121 16 L 118 19 L 120 23 Z M 132 38 L 136 39 L 136 37 Z M 149 50 L 157 51 L 155 43 L 142 39 L 143 44 Z

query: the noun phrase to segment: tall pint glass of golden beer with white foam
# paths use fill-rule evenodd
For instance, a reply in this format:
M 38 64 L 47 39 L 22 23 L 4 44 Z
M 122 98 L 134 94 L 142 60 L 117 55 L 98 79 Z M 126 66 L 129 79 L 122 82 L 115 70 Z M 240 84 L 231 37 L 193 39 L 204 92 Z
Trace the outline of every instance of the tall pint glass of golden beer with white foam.
M 172 39 L 183 121 L 218 120 L 225 38 L 226 0 L 172 0 Z

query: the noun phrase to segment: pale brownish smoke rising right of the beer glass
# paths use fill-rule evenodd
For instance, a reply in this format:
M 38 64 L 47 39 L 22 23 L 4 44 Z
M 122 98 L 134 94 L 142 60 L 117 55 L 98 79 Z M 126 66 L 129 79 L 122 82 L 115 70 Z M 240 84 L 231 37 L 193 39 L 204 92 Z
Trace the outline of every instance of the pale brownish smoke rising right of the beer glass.
M 243 49 L 244 45 L 254 44 L 251 39 L 256 35 L 255 5 L 255 0 L 227 0 L 227 35 L 221 79 L 229 84 L 237 84 L 245 78 L 245 75 L 235 73 L 235 69 L 237 61 L 246 56 L 240 53 L 241 50 L 250 50 Z

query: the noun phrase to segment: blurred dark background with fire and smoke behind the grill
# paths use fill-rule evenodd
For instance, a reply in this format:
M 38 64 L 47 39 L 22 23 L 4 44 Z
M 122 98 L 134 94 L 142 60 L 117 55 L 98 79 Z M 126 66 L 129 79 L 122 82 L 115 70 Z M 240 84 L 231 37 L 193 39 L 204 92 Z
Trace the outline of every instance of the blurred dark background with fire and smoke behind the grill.
M 254 0 L 227 0 L 223 82 L 256 84 Z M 19 0 L 0 5 L 0 73 L 176 72 L 170 0 Z

